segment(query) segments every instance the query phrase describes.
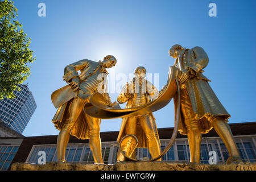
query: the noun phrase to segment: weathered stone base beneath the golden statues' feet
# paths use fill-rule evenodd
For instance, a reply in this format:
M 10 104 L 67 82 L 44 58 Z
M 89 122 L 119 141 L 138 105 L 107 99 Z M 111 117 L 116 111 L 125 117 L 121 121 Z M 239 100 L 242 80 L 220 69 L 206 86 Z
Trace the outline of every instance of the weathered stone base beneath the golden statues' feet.
M 218 163 L 212 165 L 189 162 L 117 162 L 116 164 L 14 163 L 11 166 L 11 171 L 256 171 L 256 162 Z

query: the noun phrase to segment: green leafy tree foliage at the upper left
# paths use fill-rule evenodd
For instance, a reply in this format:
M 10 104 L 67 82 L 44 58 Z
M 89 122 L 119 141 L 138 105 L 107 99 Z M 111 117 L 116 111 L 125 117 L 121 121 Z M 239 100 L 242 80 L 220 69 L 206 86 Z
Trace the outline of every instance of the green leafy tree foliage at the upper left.
M 13 91 L 30 75 L 27 64 L 35 60 L 17 12 L 12 1 L 0 1 L 0 100 L 15 97 Z

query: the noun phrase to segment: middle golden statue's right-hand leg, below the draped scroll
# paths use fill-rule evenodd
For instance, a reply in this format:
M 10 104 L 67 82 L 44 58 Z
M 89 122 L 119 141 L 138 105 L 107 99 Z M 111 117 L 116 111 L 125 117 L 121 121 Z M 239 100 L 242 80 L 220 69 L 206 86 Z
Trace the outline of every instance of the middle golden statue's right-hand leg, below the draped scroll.
M 151 114 L 147 114 L 140 119 L 141 119 L 142 129 L 146 134 L 146 138 L 148 140 L 148 150 L 152 156 L 152 159 L 154 159 L 161 154 L 161 144 L 160 144 L 154 118 L 152 117 Z M 162 159 L 158 159 L 158 161 L 161 161 L 161 160 Z

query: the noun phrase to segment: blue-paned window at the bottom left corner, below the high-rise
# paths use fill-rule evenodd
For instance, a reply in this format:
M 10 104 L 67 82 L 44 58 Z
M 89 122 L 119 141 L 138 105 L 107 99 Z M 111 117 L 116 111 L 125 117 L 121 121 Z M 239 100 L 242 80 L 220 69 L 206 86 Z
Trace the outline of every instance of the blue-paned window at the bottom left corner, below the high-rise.
M 0 145 L 0 170 L 7 170 L 19 146 Z

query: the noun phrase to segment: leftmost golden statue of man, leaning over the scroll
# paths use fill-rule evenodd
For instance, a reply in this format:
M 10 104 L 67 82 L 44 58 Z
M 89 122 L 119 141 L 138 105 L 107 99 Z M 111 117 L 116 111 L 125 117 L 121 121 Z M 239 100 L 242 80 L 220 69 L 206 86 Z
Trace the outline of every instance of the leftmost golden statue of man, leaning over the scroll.
M 95 163 L 104 163 L 101 154 L 100 122 L 101 119 L 90 117 L 83 111 L 84 105 L 89 103 L 90 96 L 102 89 L 101 82 L 108 74 L 106 68 L 112 68 L 117 63 L 114 56 L 106 56 L 101 61 L 88 59 L 67 65 L 64 69 L 64 80 L 70 85 L 56 90 L 52 100 L 55 107 L 59 107 L 52 122 L 60 130 L 57 137 L 57 160 L 65 162 L 65 149 L 70 135 L 88 139 Z M 80 71 L 80 75 L 77 71 Z M 102 79 L 100 79 L 102 78 Z M 106 87 L 105 87 L 106 88 Z M 69 89 L 69 90 L 68 90 Z M 109 94 L 102 92 L 106 104 L 111 105 Z M 61 104 L 56 104 L 61 103 Z

